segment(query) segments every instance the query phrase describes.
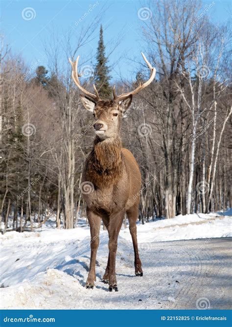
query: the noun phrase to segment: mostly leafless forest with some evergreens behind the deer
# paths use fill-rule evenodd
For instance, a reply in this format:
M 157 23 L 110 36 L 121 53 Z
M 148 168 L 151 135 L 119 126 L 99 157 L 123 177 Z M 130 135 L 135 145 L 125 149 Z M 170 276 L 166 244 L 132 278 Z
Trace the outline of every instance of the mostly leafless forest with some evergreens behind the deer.
M 229 25 L 213 24 L 210 8 L 198 1 L 155 0 L 149 8 L 152 15 L 140 20 L 141 51 L 156 78 L 133 98 L 121 126 L 123 147 L 134 154 L 142 176 L 139 221 L 226 210 L 232 207 Z M 109 99 L 114 84 L 122 94 L 148 79 L 141 58 L 130 79 L 112 81 L 100 15 L 68 31 L 62 42 L 54 31 L 44 42 L 46 67 L 39 60 L 26 65 L 1 33 L 2 233 L 33 231 L 51 217 L 57 228 L 69 229 L 86 217 L 81 178 L 93 147 L 93 114 L 81 104 L 69 58 L 76 60 L 95 29 L 100 36 L 93 64 L 79 60 L 86 89 L 93 92 L 94 83 Z

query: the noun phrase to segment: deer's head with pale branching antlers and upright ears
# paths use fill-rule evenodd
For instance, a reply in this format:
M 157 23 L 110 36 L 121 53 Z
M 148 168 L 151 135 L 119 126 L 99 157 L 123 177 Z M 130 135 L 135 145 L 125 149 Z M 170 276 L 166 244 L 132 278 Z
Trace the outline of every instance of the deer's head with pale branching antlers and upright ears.
M 96 135 L 100 139 L 107 139 L 110 137 L 116 137 L 119 134 L 121 119 L 125 111 L 129 108 L 132 102 L 133 95 L 137 94 L 140 90 L 148 86 L 156 75 L 156 69 L 151 66 L 144 54 L 142 53 L 143 59 L 150 69 L 149 79 L 131 92 L 121 94 L 120 96 L 116 95 L 115 86 L 113 88 L 113 100 L 103 101 L 100 99 L 95 85 L 93 85 L 95 94 L 90 93 L 84 89 L 79 81 L 80 75 L 77 71 L 79 56 L 75 62 L 70 60 L 72 66 L 72 79 L 77 87 L 84 93 L 81 95 L 81 101 L 84 107 L 93 113 L 95 122 L 93 128 Z

